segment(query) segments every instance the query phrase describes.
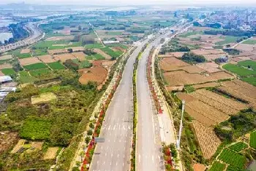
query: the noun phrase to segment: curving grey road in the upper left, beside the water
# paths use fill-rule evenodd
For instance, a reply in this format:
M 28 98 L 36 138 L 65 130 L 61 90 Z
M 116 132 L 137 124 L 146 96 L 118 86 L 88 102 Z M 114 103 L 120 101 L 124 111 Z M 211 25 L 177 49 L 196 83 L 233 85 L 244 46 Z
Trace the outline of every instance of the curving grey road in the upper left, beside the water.
M 30 44 L 34 44 L 34 42 L 39 41 L 45 36 L 45 33 L 42 33 L 42 31 L 38 28 L 38 23 L 27 23 L 24 28 L 29 31 L 29 37 L 17 41 L 13 44 L 7 44 L 0 47 L 0 52 L 7 52 L 11 49 L 18 49 L 19 47 L 29 46 Z

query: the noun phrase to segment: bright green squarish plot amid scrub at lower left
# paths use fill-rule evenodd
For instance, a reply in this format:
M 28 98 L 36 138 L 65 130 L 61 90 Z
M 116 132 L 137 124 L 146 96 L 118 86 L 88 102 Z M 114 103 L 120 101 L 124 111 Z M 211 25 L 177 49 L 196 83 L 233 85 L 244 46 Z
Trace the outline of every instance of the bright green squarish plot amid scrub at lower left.
M 20 137 L 29 140 L 48 140 L 50 122 L 44 119 L 27 119 L 21 127 Z

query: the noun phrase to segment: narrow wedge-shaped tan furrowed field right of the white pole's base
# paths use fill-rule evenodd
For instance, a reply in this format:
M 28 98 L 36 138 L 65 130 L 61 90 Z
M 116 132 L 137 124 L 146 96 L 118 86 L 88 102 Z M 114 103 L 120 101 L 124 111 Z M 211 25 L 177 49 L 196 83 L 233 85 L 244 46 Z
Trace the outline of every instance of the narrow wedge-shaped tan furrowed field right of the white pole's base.
M 194 120 L 192 123 L 195 128 L 195 134 L 197 135 L 197 140 L 202 150 L 203 157 L 206 159 L 211 158 L 221 143 L 214 132 L 214 128 L 206 127 L 196 120 Z

